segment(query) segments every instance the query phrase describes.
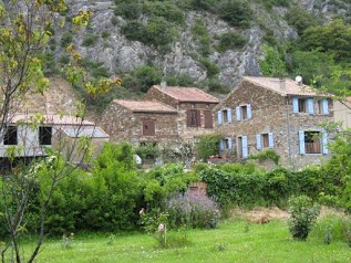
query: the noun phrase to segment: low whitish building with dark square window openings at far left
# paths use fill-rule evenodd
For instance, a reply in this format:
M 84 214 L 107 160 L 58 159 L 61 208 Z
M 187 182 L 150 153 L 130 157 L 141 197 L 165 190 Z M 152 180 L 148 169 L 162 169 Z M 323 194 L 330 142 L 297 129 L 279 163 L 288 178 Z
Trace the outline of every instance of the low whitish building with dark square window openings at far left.
M 33 124 L 35 124 L 33 126 Z M 94 123 L 73 116 L 61 115 L 14 115 L 9 119 L 0 136 L 0 158 L 7 156 L 10 147 L 18 147 L 17 157 L 47 156 L 45 149 L 54 148 L 62 152 L 74 151 L 72 161 L 80 161 L 75 154 L 75 138 L 86 136 L 94 147 L 93 155 L 107 141 L 109 135 Z

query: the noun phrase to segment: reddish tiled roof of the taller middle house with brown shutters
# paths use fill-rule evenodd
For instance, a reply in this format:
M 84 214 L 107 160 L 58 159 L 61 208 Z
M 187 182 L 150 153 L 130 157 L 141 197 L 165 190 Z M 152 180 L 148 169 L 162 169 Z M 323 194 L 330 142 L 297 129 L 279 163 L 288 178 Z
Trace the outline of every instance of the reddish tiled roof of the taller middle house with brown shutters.
M 163 93 L 179 102 L 194 102 L 194 103 L 219 103 L 219 99 L 213 95 L 203 92 L 196 87 L 178 87 L 178 86 L 166 86 L 161 87 L 159 85 L 154 85 Z

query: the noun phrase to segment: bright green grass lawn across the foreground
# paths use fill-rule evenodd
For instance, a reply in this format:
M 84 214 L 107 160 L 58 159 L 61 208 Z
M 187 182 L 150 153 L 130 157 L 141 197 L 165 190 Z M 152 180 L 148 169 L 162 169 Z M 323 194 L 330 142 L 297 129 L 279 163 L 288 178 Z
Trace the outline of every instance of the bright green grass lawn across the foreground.
M 192 244 L 180 249 L 159 249 L 144 233 L 114 234 L 109 244 L 110 234 L 75 233 L 69 249 L 61 240 L 48 240 L 38 262 L 351 262 L 347 243 L 327 245 L 313 235 L 306 242 L 295 241 L 282 221 L 227 221 L 216 230 L 187 231 Z

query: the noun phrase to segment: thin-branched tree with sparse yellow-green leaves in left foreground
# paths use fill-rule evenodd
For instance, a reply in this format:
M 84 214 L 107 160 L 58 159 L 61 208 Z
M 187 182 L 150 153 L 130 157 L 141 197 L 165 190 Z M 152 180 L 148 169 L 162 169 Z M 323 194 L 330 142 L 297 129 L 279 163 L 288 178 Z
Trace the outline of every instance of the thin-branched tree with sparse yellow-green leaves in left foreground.
M 49 81 L 44 77 L 41 54 L 45 51 L 49 40 L 52 38 L 51 27 L 60 24 L 58 13 L 66 10 L 65 0 L 38 1 L 13 0 L 0 1 L 0 139 L 3 139 L 16 112 L 23 105 L 28 94 L 42 94 L 49 87 Z M 72 23 L 75 30 L 87 24 L 90 11 L 79 11 Z M 66 70 L 66 77 L 71 83 L 83 80 L 84 71 L 80 69 L 81 56 L 72 45 L 66 48 L 72 56 Z M 100 80 L 86 82 L 85 87 L 93 96 L 107 91 L 121 83 L 120 78 Z M 76 105 L 76 135 L 81 132 L 84 122 L 84 104 Z M 35 129 L 42 123 L 42 116 L 31 117 L 30 128 Z M 20 125 L 20 124 L 18 124 Z M 79 137 L 79 136 L 76 136 Z M 64 149 L 64 155 L 63 150 Z M 50 209 L 52 194 L 58 182 L 70 173 L 84 160 L 89 154 L 89 138 L 74 139 L 69 145 L 62 138 L 58 143 L 58 149 L 43 147 L 45 158 L 33 158 L 29 164 L 20 161 L 20 146 L 9 147 L 8 161 L 12 169 L 0 177 L 0 194 L 2 199 L 3 217 L 8 233 L 8 244 L 1 251 L 2 262 L 22 262 L 25 260 L 20 250 L 20 238 L 24 227 L 24 219 L 29 206 L 32 204 L 33 194 L 38 186 L 44 185 L 41 201 L 38 203 L 38 241 L 37 246 L 29 256 L 28 262 L 37 257 L 42 242 L 47 236 L 45 217 Z M 76 164 L 72 158 L 78 157 Z M 43 172 L 44 171 L 44 172 Z M 43 189 L 42 189 L 43 190 Z M 2 227 L 2 225 L 1 225 Z M 9 254 L 7 256 L 7 254 Z

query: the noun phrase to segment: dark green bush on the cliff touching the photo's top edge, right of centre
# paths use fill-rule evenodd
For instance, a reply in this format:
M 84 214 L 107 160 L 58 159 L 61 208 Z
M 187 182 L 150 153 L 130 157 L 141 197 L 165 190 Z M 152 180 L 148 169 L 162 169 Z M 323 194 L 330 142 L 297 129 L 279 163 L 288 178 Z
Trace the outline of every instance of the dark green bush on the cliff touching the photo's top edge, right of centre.
M 233 27 L 249 28 L 252 10 L 246 0 L 225 0 L 219 3 L 218 15 Z

